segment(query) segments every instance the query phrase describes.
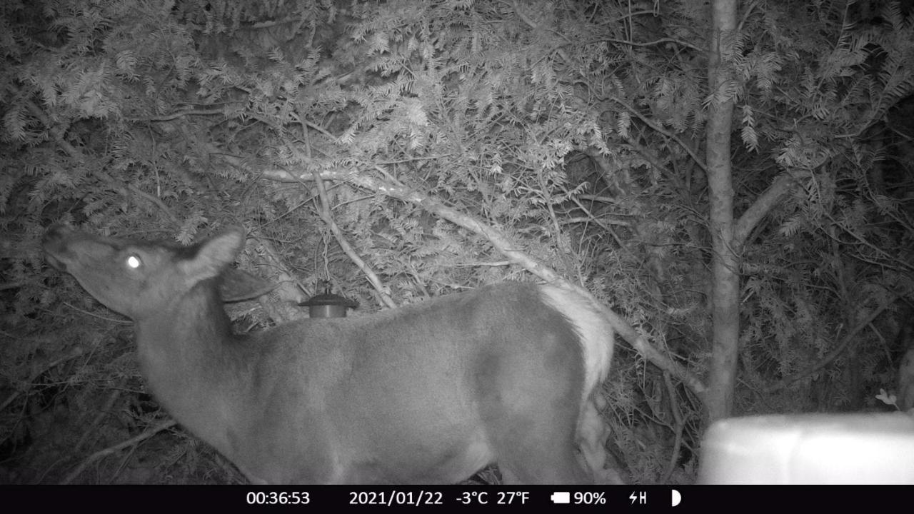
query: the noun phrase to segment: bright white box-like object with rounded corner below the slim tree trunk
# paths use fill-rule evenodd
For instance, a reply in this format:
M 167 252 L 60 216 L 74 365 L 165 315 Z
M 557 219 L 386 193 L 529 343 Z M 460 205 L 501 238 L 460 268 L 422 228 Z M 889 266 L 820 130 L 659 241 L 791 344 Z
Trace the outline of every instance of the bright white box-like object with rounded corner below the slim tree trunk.
M 914 484 L 914 411 L 731 418 L 701 451 L 699 484 Z

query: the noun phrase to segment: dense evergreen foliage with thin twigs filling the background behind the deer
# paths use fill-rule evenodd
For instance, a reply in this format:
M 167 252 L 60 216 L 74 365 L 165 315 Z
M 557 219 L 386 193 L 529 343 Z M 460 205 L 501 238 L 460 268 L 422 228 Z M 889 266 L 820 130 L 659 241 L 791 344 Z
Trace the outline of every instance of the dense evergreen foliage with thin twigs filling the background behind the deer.
M 877 408 L 914 308 L 914 15 L 744 4 L 730 79 L 708 91 L 707 5 L 689 0 L 0 3 L 0 482 L 64 480 L 160 416 L 129 325 L 43 264 L 57 221 L 182 243 L 243 225 L 242 265 L 308 294 L 330 280 L 368 310 L 532 280 L 365 177 L 500 230 L 702 375 L 703 134 L 723 99 L 744 230 L 738 411 Z M 787 194 L 766 197 L 779 180 Z M 634 480 L 690 480 L 700 399 L 618 344 L 613 453 Z M 167 451 L 190 456 L 73 479 L 238 479 Z

